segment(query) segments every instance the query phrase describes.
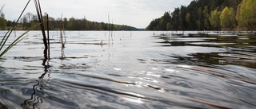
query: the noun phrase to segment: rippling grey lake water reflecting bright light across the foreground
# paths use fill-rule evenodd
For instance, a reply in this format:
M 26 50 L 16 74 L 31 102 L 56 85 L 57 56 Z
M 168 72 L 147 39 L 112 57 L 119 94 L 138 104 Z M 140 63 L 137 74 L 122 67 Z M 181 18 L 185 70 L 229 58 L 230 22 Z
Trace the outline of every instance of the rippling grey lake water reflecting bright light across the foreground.
M 154 34 L 66 32 L 62 49 L 52 31 L 48 61 L 30 32 L 0 59 L 0 108 L 256 108 L 256 37 Z

